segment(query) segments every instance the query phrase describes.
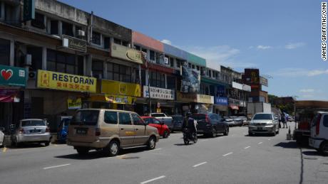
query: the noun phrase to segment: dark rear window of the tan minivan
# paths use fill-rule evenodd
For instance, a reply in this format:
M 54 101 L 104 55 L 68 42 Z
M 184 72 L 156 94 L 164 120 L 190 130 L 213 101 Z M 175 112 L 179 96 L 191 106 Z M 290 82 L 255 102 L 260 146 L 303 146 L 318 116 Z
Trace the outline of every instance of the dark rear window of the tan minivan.
M 71 125 L 96 125 L 98 122 L 99 110 L 82 110 L 75 114 L 71 120 Z

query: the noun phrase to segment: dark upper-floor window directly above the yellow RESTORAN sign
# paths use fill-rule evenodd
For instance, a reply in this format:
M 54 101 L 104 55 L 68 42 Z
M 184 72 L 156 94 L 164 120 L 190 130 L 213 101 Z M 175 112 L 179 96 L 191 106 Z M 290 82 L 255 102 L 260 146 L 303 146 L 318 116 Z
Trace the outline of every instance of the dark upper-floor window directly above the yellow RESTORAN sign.
M 82 75 L 83 57 L 79 56 L 76 60 L 76 55 L 48 49 L 46 66 L 50 71 Z

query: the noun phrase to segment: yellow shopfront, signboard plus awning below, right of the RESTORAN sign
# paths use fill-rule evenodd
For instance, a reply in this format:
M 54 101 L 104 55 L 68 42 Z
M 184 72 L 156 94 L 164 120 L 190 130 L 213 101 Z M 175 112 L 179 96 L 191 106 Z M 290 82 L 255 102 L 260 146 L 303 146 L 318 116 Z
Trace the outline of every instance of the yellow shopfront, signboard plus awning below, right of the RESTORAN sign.
M 97 93 L 90 94 L 86 102 L 91 108 L 135 111 L 137 97 L 140 96 L 141 90 L 138 84 L 101 80 L 97 87 Z

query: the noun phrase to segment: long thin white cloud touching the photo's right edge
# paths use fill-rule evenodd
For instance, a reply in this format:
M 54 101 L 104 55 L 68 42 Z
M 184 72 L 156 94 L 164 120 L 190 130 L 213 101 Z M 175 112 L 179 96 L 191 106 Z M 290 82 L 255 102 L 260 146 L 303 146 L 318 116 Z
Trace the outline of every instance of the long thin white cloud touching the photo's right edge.
M 327 70 L 308 70 L 304 68 L 282 68 L 275 72 L 270 72 L 270 75 L 280 76 L 280 77 L 299 77 L 299 76 L 308 76 L 313 77 L 317 75 L 328 75 Z

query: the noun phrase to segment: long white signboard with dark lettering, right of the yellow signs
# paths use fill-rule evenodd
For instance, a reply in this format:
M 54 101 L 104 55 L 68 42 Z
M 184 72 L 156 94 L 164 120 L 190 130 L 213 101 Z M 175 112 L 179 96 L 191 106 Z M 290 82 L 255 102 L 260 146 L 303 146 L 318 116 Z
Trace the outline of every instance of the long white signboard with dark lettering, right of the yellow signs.
M 148 86 L 143 86 L 143 97 L 149 97 Z M 153 99 L 174 99 L 174 91 L 159 87 L 150 87 L 150 98 Z

